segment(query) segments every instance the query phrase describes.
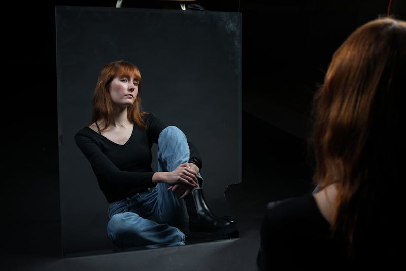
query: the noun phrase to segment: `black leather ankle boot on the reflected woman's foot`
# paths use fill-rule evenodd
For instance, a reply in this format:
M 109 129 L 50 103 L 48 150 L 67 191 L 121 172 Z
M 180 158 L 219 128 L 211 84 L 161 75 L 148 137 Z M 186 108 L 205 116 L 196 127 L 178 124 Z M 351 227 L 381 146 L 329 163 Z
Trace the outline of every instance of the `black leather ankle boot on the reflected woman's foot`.
M 186 198 L 186 207 L 189 214 L 189 230 L 193 232 L 216 233 L 224 238 L 238 237 L 235 221 L 217 217 L 207 206 L 203 190 L 194 189 Z

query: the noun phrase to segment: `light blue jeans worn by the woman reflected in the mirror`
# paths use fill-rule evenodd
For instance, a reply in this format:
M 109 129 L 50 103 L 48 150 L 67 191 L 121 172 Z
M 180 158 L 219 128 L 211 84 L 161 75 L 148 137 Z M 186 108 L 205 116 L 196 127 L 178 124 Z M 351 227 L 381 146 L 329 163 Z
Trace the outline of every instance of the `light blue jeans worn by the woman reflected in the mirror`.
M 157 160 L 158 171 L 173 171 L 189 161 L 186 136 L 176 126 L 168 126 L 159 134 Z M 159 183 L 110 204 L 107 233 L 116 247 L 185 245 L 185 233 L 189 232 L 185 200 L 167 191 L 168 187 Z

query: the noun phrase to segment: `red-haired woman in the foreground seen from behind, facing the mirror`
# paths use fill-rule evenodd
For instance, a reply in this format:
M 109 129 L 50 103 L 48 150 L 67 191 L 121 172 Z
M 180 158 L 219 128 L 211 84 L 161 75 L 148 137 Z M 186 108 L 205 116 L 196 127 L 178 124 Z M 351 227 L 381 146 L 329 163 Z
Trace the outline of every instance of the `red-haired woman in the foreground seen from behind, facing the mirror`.
M 336 50 L 314 97 L 318 190 L 268 204 L 261 270 L 403 259 L 405 93 L 406 22 L 373 20 Z

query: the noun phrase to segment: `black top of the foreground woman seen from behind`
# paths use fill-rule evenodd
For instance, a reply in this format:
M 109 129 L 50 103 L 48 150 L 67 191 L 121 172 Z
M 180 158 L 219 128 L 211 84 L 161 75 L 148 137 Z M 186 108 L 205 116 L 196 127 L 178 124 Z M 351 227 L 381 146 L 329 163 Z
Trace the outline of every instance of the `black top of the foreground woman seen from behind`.
M 261 271 L 396 270 L 404 261 L 402 225 L 388 227 L 393 235 L 386 230 L 367 232 L 352 259 L 344 235 L 332 235 L 312 194 L 270 202 L 260 225 L 257 266 Z

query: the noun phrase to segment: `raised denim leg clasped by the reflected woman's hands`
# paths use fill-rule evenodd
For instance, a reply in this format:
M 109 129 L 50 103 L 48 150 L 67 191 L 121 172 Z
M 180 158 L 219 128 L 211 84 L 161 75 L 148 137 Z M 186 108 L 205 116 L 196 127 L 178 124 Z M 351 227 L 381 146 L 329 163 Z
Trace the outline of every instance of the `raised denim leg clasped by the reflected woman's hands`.
M 185 134 L 176 126 L 162 130 L 158 138 L 158 171 L 173 171 L 180 164 L 189 161 L 189 145 Z M 199 177 L 200 173 L 198 174 Z M 166 223 L 188 232 L 189 215 L 186 203 L 172 191 L 167 191 L 168 184 L 158 185 L 157 214 Z

